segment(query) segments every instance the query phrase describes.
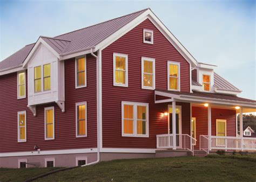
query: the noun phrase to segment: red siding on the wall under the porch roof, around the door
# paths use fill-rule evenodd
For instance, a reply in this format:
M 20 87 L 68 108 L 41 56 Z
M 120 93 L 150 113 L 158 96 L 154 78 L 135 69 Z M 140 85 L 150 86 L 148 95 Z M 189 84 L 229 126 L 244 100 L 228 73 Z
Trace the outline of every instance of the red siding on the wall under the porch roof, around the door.
M 227 120 L 227 136 L 236 136 L 235 110 L 212 108 L 212 136 L 216 135 L 216 120 Z M 192 107 L 192 117 L 196 117 L 196 139 L 195 149 L 199 149 L 200 135 L 208 135 L 208 111 L 206 107 Z

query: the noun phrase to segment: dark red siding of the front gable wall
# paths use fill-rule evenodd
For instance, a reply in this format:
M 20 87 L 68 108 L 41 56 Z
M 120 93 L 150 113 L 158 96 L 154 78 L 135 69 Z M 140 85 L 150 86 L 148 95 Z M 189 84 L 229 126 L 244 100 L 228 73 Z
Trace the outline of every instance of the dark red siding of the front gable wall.
M 143 43 L 143 29 L 153 30 L 153 45 Z M 128 87 L 113 86 L 113 53 L 128 55 Z M 181 91 L 190 92 L 188 62 L 146 19 L 102 51 L 104 148 L 156 148 L 156 135 L 168 132 L 167 117 L 160 116 L 167 111 L 167 104 L 154 104 L 154 90 L 142 89 L 142 57 L 156 59 L 156 89 L 167 90 L 167 61 L 180 62 Z M 149 138 L 122 137 L 122 101 L 149 103 Z M 186 108 L 184 114 L 189 115 L 190 108 Z

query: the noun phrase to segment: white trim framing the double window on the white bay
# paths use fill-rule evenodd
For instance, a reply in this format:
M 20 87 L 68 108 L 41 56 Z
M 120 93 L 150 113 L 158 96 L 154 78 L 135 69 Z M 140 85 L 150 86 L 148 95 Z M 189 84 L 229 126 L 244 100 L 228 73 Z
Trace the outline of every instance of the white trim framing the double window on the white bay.
M 50 69 L 51 69 L 51 73 L 50 73 L 50 90 L 44 90 L 44 65 L 49 65 L 50 64 Z M 41 92 L 36 92 L 35 90 L 35 67 L 41 66 Z M 52 90 L 52 62 L 46 62 L 42 65 L 37 65 L 33 67 L 33 90 L 34 90 L 34 94 L 42 94 L 42 93 L 50 93 Z

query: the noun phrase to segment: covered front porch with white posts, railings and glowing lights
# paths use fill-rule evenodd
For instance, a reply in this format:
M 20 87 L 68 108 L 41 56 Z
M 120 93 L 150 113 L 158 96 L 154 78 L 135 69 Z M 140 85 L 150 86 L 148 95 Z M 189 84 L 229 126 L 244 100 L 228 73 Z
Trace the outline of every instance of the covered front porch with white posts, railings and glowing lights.
M 206 94 L 207 95 L 207 94 Z M 214 94 L 212 94 L 214 95 Z M 160 96 L 160 97 L 158 97 Z M 255 102 L 224 100 L 193 94 L 181 95 L 155 91 L 155 103 L 167 103 L 168 134 L 157 135 L 157 150 L 195 150 L 216 152 L 248 151 L 256 152 L 256 138 L 244 137 L 242 134 L 242 114 L 256 111 Z M 160 98 L 160 99 L 157 99 Z M 228 96 L 228 99 L 232 96 Z M 190 110 L 181 108 L 180 103 L 190 103 Z M 181 110 L 190 113 L 190 123 L 183 123 Z M 175 114 L 172 113 L 175 111 Z M 237 115 L 240 114 L 239 129 Z M 190 124 L 190 131 L 183 131 L 181 125 Z

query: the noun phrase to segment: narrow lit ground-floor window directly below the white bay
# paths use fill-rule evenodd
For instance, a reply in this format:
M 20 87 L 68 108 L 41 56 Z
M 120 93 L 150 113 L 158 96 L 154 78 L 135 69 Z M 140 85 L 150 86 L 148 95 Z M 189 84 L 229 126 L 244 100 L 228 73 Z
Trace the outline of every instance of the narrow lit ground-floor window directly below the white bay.
M 44 108 L 44 139 L 54 139 L 54 107 Z

